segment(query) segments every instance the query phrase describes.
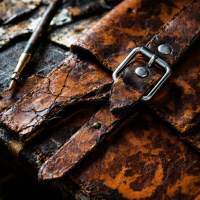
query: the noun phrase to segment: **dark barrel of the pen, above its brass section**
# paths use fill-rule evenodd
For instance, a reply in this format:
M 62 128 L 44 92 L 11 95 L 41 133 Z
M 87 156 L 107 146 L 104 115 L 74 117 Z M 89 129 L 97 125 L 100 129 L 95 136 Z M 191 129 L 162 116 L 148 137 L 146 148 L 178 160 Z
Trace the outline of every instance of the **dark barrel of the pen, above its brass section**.
M 36 52 L 40 42 L 42 41 L 42 38 L 47 33 L 51 20 L 55 16 L 61 4 L 62 0 L 54 0 L 49 4 L 47 10 L 42 16 L 40 23 L 38 24 L 33 34 L 31 35 L 27 43 L 27 46 L 24 49 L 24 52 L 29 53 L 31 55 L 33 55 Z

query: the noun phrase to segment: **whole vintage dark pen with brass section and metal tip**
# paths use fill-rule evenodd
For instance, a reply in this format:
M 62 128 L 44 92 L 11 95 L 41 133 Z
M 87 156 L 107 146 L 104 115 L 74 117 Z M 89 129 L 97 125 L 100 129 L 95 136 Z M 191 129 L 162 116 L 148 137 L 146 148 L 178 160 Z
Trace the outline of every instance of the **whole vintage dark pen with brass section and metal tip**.
M 21 54 L 18 60 L 17 66 L 13 71 L 12 76 L 10 77 L 11 82 L 9 85 L 9 90 L 11 90 L 14 87 L 14 85 L 19 81 L 22 70 L 29 63 L 34 53 L 36 52 L 43 36 L 46 34 L 48 30 L 51 20 L 55 16 L 61 4 L 62 0 L 54 0 L 49 4 L 47 10 L 42 16 L 39 25 L 32 33 L 23 53 Z

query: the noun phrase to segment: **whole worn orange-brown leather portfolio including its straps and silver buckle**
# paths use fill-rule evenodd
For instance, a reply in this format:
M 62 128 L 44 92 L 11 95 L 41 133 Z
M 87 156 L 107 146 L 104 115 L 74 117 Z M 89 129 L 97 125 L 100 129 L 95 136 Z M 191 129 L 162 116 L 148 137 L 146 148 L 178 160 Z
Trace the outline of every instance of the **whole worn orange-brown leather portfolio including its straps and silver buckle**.
M 199 0 L 124 0 L 1 93 L 1 124 L 77 199 L 200 199 L 199 35 Z

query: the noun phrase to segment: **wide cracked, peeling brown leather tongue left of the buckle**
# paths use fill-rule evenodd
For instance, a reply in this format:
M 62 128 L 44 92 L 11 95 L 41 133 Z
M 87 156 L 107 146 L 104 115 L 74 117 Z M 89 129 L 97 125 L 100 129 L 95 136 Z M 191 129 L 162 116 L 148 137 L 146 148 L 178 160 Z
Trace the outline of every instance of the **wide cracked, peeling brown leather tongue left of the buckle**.
M 45 125 L 45 120 L 78 101 L 91 100 L 90 94 L 100 95 L 110 88 L 111 83 L 110 75 L 92 59 L 69 56 L 3 114 L 2 125 L 18 133 L 23 141 L 28 141 L 39 127 Z

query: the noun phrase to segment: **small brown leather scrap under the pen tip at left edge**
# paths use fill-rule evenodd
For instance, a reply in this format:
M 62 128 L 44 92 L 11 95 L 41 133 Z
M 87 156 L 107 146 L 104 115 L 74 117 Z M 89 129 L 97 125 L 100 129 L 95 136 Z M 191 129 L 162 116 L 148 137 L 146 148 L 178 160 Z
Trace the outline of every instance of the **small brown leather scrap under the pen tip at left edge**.
M 18 84 L 13 90 L 7 89 L 0 93 L 0 114 L 13 106 L 42 79 L 43 77 L 40 75 L 33 75 Z

